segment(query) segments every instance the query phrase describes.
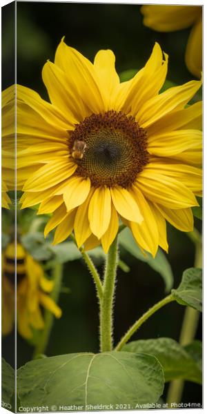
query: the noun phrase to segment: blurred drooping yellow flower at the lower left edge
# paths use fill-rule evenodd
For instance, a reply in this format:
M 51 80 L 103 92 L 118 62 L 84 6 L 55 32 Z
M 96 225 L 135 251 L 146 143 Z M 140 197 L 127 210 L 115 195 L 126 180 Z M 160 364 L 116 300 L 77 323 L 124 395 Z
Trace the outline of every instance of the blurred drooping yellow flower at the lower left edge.
M 61 309 L 48 296 L 53 282 L 46 278 L 43 269 L 20 243 L 10 243 L 2 259 L 2 333 L 8 335 L 14 326 L 14 275 L 15 251 L 17 254 L 17 329 L 25 339 L 33 336 L 32 328 L 44 328 L 41 307 L 48 309 L 57 318 Z

